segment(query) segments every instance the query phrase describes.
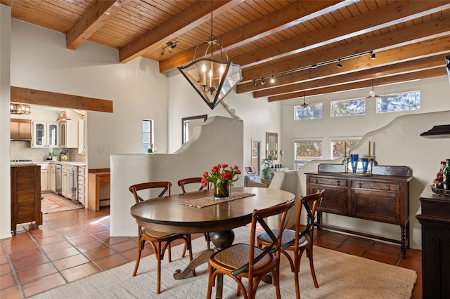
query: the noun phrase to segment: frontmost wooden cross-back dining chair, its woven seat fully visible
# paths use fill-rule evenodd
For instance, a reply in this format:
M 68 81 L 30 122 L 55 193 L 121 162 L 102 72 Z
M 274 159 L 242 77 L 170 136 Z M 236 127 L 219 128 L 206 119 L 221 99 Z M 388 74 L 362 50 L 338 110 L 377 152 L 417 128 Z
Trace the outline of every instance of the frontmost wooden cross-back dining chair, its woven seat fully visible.
M 279 262 L 281 255 L 281 234 L 284 229 L 286 214 L 293 207 L 295 200 L 286 201 L 285 204 L 271 206 L 252 213 L 252 226 L 250 228 L 250 244 L 233 244 L 228 248 L 212 253 L 209 261 L 207 298 L 211 298 L 212 286 L 217 275 L 227 275 L 238 284 L 237 295 L 242 292 L 244 298 L 255 298 L 259 282 L 271 273 L 276 290 L 276 298 L 281 298 Z M 273 234 L 264 218 L 281 214 L 278 233 Z M 257 223 L 271 236 L 271 244 L 262 249 L 255 246 Z M 248 279 L 248 287 L 242 279 Z M 217 291 L 221 288 L 217 288 Z M 217 296 L 217 295 L 216 295 Z

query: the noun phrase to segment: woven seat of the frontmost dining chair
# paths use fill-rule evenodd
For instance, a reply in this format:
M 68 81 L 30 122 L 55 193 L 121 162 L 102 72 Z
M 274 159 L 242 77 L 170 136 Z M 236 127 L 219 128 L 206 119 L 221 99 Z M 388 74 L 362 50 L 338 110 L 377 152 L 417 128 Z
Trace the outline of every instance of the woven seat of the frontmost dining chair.
M 235 244 L 219 251 L 214 255 L 214 259 L 221 264 L 229 266 L 231 269 L 236 269 L 242 265 L 248 264 L 249 251 L 250 246 L 248 244 Z M 255 256 L 262 252 L 261 248 L 255 247 Z M 273 258 L 274 255 L 271 255 L 270 253 L 264 255 L 264 257 L 255 264 L 254 269 L 257 270 L 259 267 L 266 265 Z

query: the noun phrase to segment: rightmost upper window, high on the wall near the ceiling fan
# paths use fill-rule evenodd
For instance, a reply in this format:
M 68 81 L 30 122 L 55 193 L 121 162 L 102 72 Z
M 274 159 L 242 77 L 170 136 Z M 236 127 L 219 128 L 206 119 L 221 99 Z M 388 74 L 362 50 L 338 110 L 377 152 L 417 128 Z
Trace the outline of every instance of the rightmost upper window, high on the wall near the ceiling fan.
M 377 98 L 377 113 L 420 109 L 420 91 Z

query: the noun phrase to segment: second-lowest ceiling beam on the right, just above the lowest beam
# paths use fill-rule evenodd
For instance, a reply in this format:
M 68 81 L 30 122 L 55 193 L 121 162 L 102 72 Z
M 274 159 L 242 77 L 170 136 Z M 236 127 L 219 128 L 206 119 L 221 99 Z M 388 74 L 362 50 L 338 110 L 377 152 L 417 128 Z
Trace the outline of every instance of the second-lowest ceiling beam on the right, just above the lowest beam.
M 435 55 L 421 58 L 419 60 L 401 62 L 397 65 L 394 65 L 394 67 L 392 65 L 385 65 L 383 67 L 375 67 L 359 72 L 352 72 L 343 76 L 326 77 L 322 79 L 304 81 L 297 84 L 290 84 L 288 86 L 268 88 L 263 91 L 255 91 L 255 93 L 253 93 L 253 98 L 281 95 L 283 93 L 293 93 L 296 91 L 307 91 L 309 89 L 317 88 L 318 86 L 328 87 L 341 84 L 349 84 L 357 81 L 365 81 L 367 79 L 389 77 L 395 74 L 417 72 L 419 70 L 425 69 L 435 69 L 437 67 L 445 67 L 445 60 L 443 59 L 442 55 Z

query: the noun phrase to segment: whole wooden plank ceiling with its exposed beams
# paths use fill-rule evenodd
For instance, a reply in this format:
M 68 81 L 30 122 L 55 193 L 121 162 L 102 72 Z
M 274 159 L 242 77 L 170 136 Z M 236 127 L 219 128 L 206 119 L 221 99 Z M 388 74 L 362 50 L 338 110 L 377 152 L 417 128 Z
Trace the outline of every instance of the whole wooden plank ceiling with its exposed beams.
M 0 1 L 13 18 L 65 34 L 72 51 L 91 41 L 122 63 L 158 61 L 162 73 L 193 60 L 213 11 L 214 38 L 243 67 L 237 93 L 269 101 L 443 76 L 450 55 L 450 1 Z

